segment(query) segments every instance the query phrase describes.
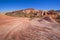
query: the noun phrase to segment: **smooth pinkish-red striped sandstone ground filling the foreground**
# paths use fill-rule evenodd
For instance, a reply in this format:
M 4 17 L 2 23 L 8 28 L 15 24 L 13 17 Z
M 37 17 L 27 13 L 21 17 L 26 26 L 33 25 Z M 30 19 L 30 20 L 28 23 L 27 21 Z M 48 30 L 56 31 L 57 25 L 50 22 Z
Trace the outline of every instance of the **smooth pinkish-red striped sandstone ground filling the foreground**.
M 0 17 L 0 40 L 60 40 L 60 25 L 49 17 L 32 20 L 2 17 Z M 46 18 L 49 18 L 49 21 Z

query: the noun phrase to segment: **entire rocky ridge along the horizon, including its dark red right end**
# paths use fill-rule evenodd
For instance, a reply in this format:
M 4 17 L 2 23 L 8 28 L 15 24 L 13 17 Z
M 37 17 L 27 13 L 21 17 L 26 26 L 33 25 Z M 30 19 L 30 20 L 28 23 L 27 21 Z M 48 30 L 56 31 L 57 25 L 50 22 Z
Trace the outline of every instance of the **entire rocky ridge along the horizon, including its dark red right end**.
M 13 11 L 13 12 L 7 12 L 5 15 L 13 16 L 13 17 L 28 17 L 28 18 L 35 18 L 35 17 L 43 17 L 44 15 L 51 16 L 52 18 L 57 18 L 58 13 L 56 13 L 54 10 L 35 10 L 33 8 Z

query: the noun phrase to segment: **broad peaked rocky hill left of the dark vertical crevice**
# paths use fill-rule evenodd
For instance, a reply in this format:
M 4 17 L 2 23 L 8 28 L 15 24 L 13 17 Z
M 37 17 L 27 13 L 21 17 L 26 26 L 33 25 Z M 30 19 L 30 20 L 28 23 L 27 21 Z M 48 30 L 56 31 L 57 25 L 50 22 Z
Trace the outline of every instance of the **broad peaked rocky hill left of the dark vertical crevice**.
M 15 16 L 15 17 L 41 17 L 42 10 L 35 10 L 33 8 L 7 12 L 5 15 Z

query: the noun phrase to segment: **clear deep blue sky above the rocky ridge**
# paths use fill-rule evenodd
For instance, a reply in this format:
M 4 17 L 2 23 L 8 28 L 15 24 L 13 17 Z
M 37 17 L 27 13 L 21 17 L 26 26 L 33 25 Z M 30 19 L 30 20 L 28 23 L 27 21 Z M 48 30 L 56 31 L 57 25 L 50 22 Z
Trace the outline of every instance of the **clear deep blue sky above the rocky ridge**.
M 34 8 L 60 10 L 60 0 L 0 0 L 0 12 Z

